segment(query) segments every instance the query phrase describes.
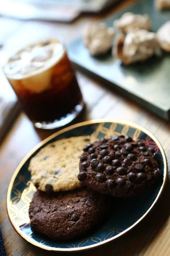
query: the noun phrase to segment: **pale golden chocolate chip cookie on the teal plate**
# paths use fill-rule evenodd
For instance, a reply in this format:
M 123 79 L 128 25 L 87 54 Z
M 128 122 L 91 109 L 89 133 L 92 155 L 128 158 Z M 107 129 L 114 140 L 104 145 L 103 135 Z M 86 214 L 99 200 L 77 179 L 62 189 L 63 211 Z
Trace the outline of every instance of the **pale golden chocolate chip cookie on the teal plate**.
M 50 143 L 30 161 L 28 170 L 37 189 L 51 193 L 79 188 L 79 158 L 89 136 L 71 137 Z

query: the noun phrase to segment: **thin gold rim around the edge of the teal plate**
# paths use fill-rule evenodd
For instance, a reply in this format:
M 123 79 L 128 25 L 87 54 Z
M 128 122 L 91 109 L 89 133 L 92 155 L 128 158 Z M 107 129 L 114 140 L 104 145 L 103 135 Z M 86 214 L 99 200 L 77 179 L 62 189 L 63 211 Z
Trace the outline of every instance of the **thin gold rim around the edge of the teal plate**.
M 88 246 L 85 246 L 85 247 L 77 247 L 77 248 L 48 248 L 48 246 L 44 246 L 43 244 L 40 244 L 38 242 L 34 242 L 34 241 L 30 241 L 29 239 L 27 239 L 27 237 L 23 236 L 23 234 L 20 232 L 20 229 L 15 227 L 13 221 L 11 220 L 11 217 L 10 217 L 10 214 L 9 214 L 9 208 L 8 208 L 8 204 L 10 202 L 10 194 L 11 194 L 11 189 L 12 189 L 12 186 L 13 186 L 13 183 L 14 183 L 14 180 L 15 178 L 17 177 L 17 174 L 19 173 L 21 167 L 24 165 L 24 163 L 28 160 L 29 157 L 31 157 L 31 155 L 38 149 L 40 148 L 42 145 L 44 145 L 45 143 L 47 143 L 49 140 L 53 139 L 54 137 L 57 137 L 58 135 L 66 132 L 66 131 L 69 131 L 69 130 L 72 130 L 74 128 L 77 128 L 77 127 L 80 127 L 80 126 L 84 126 L 84 125 L 91 125 L 91 124 L 96 124 L 96 123 L 102 123 L 102 122 L 113 122 L 113 123 L 118 123 L 118 124 L 122 124 L 122 125 L 129 125 L 133 128 L 136 128 L 136 129 L 139 129 L 140 131 L 143 131 L 145 134 L 147 134 L 150 138 L 152 138 L 156 144 L 158 145 L 159 147 L 159 150 L 161 151 L 161 155 L 163 157 L 163 161 L 164 161 L 164 179 L 163 179 L 163 183 L 161 185 L 161 188 L 159 190 L 159 193 L 158 195 L 156 196 L 156 199 L 155 201 L 153 202 L 153 204 L 150 206 L 150 208 L 144 213 L 144 215 L 142 215 L 141 218 L 139 218 L 138 221 L 136 221 L 133 225 L 131 225 L 130 227 L 128 227 L 126 230 L 122 231 L 120 234 L 116 235 L 116 236 L 113 236 L 112 238 L 110 239 L 107 239 L 105 241 L 102 241 L 102 242 L 99 242 L 97 244 L 91 244 L 91 245 L 88 245 Z M 9 183 L 9 186 L 8 186 L 8 192 L 7 192 L 7 199 L 6 199 L 6 206 L 7 206 L 7 213 L 8 213 L 8 218 L 11 222 L 11 225 L 12 227 L 14 228 L 14 230 L 23 238 L 25 239 L 26 241 L 28 241 L 29 243 L 37 246 L 37 247 L 40 247 L 42 249 L 45 249 L 45 250 L 51 250 L 51 251 L 79 251 L 79 250 L 87 250 L 87 249 L 92 249 L 94 247 L 97 247 L 99 245 L 102 245 L 102 244 L 106 244 L 110 241 L 113 241 L 115 239 L 117 239 L 118 237 L 120 236 L 123 236 L 125 233 L 127 233 L 128 231 L 130 231 L 131 229 L 133 229 L 133 227 L 135 227 L 137 224 L 139 224 L 140 221 L 142 221 L 142 219 L 144 219 L 144 217 L 150 212 L 150 210 L 153 208 L 153 206 L 156 204 L 156 202 L 158 201 L 163 189 L 164 189 L 164 186 L 165 186 L 165 183 L 166 183 L 166 180 L 167 180 L 167 160 L 166 160 L 166 156 L 164 154 L 164 150 L 161 146 L 161 144 L 159 143 L 159 141 L 156 139 L 156 137 L 150 133 L 150 131 L 147 131 L 145 128 L 141 127 L 140 125 L 136 125 L 132 122 L 122 122 L 122 121 L 119 121 L 119 120 L 115 120 L 115 119 L 94 119 L 94 120 L 91 120 L 91 121 L 85 121 L 85 122 L 80 122 L 78 124 L 75 124 L 75 125 L 71 125 L 67 128 L 64 128 L 60 131 L 57 131 L 56 133 L 52 134 L 51 136 L 49 136 L 48 138 L 46 138 L 45 140 L 43 140 L 42 142 L 38 143 L 37 146 L 35 146 L 27 155 L 26 157 L 24 157 L 24 159 L 20 162 L 20 164 L 17 166 L 17 169 L 15 170 L 12 178 L 11 178 L 11 181 Z

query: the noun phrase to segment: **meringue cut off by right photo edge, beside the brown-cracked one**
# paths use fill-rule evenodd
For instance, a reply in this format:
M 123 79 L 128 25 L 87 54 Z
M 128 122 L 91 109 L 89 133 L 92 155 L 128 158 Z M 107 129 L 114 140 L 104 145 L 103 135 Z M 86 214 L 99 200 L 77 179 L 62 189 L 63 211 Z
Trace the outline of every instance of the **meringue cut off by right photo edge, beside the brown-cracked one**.
M 157 39 L 159 41 L 160 47 L 166 51 L 170 52 L 170 20 L 165 22 L 156 33 Z

